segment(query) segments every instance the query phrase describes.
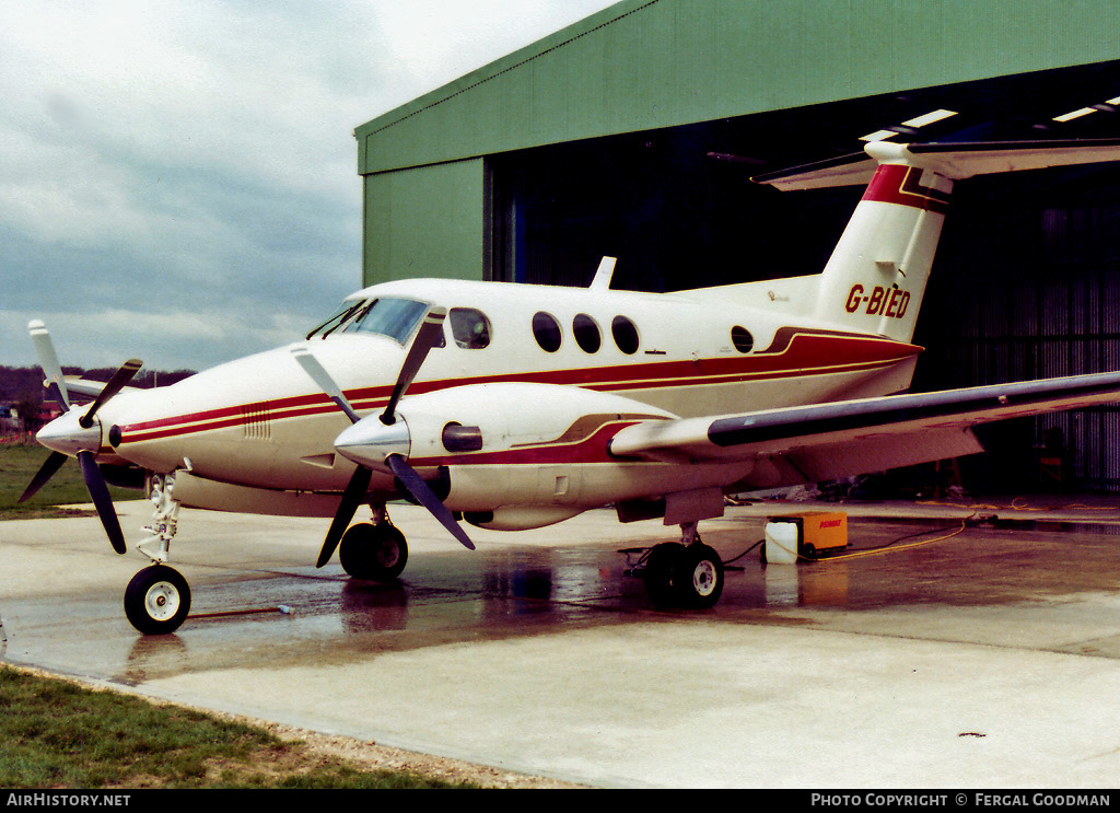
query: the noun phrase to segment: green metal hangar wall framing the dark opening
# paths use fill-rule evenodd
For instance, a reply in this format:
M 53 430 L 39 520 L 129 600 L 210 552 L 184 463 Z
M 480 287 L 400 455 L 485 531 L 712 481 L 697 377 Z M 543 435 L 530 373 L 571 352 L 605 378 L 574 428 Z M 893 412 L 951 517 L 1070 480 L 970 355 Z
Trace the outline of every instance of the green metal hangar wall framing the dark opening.
M 506 275 L 515 151 L 1118 57 L 1109 0 L 625 0 L 357 128 L 364 279 Z

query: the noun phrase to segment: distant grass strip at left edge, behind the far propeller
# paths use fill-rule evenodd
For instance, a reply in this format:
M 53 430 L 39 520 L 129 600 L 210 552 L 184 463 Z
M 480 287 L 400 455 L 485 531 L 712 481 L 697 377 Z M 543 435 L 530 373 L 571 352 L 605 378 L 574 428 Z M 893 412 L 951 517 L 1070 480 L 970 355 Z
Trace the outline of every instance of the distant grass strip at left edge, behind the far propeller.
M 38 443 L 0 443 L 0 520 L 88 516 L 94 512 L 62 508 L 88 503 L 90 493 L 76 460 L 67 460 L 50 482 L 26 503 L 17 502 L 50 452 Z M 113 499 L 139 499 L 140 492 L 110 486 Z

